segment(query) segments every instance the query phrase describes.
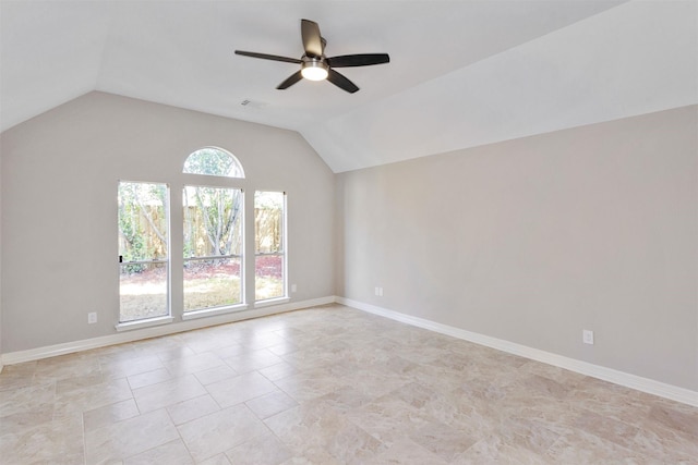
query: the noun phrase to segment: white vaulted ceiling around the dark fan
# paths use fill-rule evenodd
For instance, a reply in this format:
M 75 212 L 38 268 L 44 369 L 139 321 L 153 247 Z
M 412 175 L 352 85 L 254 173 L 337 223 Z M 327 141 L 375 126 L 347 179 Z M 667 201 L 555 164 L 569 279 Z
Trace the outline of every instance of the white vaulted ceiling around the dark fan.
M 302 81 L 300 19 L 361 90 Z M 0 0 L 0 130 L 101 90 L 300 132 L 335 171 L 698 103 L 697 0 Z M 262 108 L 240 102 L 251 99 Z

